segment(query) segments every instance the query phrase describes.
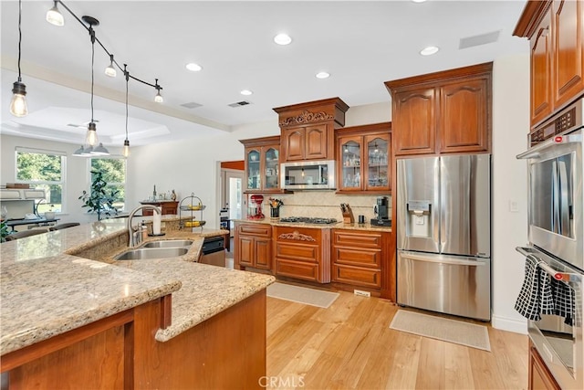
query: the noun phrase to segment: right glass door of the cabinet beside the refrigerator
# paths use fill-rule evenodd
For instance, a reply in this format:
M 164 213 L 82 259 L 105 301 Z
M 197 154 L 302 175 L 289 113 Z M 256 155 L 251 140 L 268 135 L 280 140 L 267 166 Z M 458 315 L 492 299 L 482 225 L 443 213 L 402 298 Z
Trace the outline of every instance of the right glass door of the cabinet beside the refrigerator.
M 390 135 L 365 136 L 365 163 L 367 180 L 365 191 L 381 191 L 390 189 Z

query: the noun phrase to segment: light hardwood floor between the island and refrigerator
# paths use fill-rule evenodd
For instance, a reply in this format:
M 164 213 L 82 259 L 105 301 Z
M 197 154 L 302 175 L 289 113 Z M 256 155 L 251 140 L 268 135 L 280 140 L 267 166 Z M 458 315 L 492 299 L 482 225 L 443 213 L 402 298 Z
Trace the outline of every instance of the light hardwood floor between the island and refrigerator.
M 261 385 L 371 390 L 527 387 L 526 335 L 488 326 L 489 353 L 391 330 L 398 306 L 339 293 L 328 309 L 267 299 L 268 377 Z

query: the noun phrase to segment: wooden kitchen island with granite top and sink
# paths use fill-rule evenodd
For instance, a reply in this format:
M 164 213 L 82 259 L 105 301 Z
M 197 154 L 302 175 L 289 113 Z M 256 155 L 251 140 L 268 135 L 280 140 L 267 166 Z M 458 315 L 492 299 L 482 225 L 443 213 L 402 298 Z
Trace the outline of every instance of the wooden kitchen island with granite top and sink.
M 127 247 L 125 219 L 0 245 L 3 383 L 257 385 L 266 374 L 265 289 L 274 279 L 196 263 L 203 237 L 225 231 L 173 230 L 177 216 L 162 221 L 162 238 L 193 240 L 186 255 L 114 261 Z

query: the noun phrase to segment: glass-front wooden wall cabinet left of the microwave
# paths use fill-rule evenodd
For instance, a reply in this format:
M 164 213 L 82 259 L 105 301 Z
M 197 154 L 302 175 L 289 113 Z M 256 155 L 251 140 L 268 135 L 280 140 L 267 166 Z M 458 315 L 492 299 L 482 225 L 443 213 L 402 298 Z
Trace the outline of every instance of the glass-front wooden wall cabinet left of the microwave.
M 240 140 L 245 145 L 245 193 L 281 193 L 280 137 Z

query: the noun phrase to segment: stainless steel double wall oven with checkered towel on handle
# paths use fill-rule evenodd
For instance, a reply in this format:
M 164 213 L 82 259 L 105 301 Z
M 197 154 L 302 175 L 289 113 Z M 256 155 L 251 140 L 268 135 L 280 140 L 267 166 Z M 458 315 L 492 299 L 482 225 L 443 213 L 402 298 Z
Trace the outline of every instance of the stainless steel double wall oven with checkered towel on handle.
M 561 310 L 528 320 L 527 332 L 558 385 L 566 389 L 584 388 L 583 103 L 578 100 L 544 122 L 530 134 L 527 152 L 517 155 L 527 159 L 529 239 L 517 251 L 536 259 L 537 268 L 563 289 L 559 296 L 552 294 Z

